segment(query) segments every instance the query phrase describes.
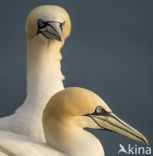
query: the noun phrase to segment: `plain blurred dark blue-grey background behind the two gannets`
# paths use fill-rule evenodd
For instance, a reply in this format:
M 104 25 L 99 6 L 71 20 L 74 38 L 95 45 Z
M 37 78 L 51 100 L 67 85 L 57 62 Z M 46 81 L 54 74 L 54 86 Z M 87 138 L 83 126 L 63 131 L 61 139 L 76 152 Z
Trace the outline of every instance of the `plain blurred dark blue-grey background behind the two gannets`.
M 152 146 L 152 0 L 1 0 L 0 117 L 13 113 L 26 97 L 25 20 L 44 4 L 64 7 L 72 20 L 62 48 L 65 87 L 96 92 Z M 106 156 L 118 155 L 119 144 L 145 147 L 115 133 L 90 131 L 103 143 Z

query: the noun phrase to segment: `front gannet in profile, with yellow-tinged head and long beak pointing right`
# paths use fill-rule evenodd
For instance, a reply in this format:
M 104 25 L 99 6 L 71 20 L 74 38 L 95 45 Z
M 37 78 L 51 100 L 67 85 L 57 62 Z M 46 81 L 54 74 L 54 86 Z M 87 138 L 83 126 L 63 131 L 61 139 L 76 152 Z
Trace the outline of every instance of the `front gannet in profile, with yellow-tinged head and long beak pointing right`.
M 52 96 L 42 122 L 46 144 L 0 131 L 1 151 L 15 156 L 104 156 L 100 141 L 84 128 L 109 130 L 148 144 L 141 133 L 119 119 L 98 95 L 83 88 L 66 88 Z

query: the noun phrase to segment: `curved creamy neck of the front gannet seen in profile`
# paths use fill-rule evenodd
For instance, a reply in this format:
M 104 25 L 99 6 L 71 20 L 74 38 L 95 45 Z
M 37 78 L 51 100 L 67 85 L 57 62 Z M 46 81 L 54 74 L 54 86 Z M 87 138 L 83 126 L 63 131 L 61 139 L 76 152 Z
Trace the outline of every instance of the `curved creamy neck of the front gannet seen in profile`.
M 50 118 L 49 123 L 44 124 L 44 131 L 47 144 L 66 156 L 104 156 L 100 141 L 73 121 Z

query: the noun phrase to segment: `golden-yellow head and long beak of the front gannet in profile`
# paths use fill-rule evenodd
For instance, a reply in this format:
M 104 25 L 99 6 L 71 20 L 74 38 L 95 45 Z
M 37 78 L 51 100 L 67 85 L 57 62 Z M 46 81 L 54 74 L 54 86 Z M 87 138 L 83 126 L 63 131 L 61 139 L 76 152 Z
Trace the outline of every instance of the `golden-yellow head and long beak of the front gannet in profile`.
M 113 131 L 148 144 L 141 133 L 119 119 L 98 95 L 87 89 L 72 87 L 56 93 L 44 110 L 44 128 L 51 118 L 56 118 L 56 122 L 65 123 L 71 120 L 72 124 L 81 129 Z

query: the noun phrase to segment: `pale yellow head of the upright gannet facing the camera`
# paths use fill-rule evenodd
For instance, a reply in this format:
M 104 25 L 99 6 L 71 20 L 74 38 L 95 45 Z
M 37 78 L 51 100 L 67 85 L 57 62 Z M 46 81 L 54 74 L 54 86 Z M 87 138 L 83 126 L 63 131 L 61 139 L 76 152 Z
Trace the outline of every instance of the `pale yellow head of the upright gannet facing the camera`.
M 31 11 L 26 21 L 28 38 L 64 41 L 71 31 L 68 13 L 59 6 L 44 5 Z

